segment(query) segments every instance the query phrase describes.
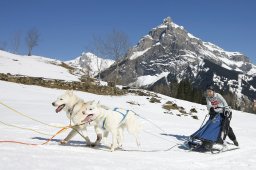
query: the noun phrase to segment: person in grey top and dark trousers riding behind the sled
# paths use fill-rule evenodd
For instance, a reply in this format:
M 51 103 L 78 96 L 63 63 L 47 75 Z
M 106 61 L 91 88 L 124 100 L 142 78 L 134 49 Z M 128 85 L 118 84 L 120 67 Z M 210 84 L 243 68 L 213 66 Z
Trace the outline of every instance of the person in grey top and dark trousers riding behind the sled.
M 214 91 L 214 87 L 212 85 L 208 86 L 206 89 L 206 102 L 207 109 L 210 114 L 210 119 L 214 118 L 216 114 L 220 113 L 222 117 L 224 117 L 223 108 L 228 107 L 226 100 L 221 96 L 221 94 L 216 93 Z M 234 145 L 238 146 L 238 142 L 236 136 L 234 134 L 233 129 L 230 127 L 230 120 L 227 119 L 228 122 L 225 124 L 228 126 L 227 136 L 230 140 L 233 141 Z

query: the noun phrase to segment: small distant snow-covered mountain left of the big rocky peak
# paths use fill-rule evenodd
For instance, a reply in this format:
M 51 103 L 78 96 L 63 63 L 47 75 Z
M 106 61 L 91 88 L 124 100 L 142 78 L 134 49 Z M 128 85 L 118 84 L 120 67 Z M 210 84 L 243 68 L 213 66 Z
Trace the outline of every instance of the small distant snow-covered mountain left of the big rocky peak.
M 109 68 L 114 63 L 114 60 L 102 59 L 90 52 L 83 52 L 81 56 L 65 63 L 76 68 L 76 72 L 83 72 L 89 77 L 94 77 L 99 72 Z

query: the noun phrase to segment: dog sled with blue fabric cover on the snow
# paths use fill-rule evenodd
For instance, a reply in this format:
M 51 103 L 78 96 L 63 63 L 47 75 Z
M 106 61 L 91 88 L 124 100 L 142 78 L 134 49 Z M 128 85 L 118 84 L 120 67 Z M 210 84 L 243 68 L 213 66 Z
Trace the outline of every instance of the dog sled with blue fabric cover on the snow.
M 231 118 L 232 112 L 227 107 L 223 108 L 222 113 L 210 115 L 204 124 L 205 117 L 201 127 L 186 142 L 189 150 L 214 154 L 238 149 L 238 147 L 232 146 L 231 143 L 225 142 Z

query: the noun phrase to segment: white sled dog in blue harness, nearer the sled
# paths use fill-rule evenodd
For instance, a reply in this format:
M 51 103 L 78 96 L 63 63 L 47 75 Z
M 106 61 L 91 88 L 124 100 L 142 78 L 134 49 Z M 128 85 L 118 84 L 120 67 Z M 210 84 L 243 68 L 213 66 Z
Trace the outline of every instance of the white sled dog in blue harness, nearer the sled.
M 132 134 L 140 146 L 138 135 L 141 131 L 141 124 L 136 119 L 135 113 L 131 110 L 106 109 L 96 102 L 86 103 L 84 107 L 86 117 L 84 122 L 94 122 L 98 126 L 98 131 L 102 130 L 106 138 L 108 133 L 112 134 L 112 145 L 110 150 L 114 151 L 118 146 L 122 146 L 123 130 L 126 128 Z

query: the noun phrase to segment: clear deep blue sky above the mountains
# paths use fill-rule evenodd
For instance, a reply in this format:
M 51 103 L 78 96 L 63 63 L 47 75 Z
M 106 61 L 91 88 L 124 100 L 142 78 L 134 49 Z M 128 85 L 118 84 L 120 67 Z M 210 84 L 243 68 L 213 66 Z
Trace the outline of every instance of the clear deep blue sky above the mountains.
M 32 54 L 70 60 L 90 46 L 93 35 L 116 29 L 135 45 L 167 16 L 203 41 L 256 63 L 254 0 L 0 0 L 0 44 L 11 51 L 20 32 L 18 52 L 27 54 L 25 35 L 37 28 L 40 41 Z

